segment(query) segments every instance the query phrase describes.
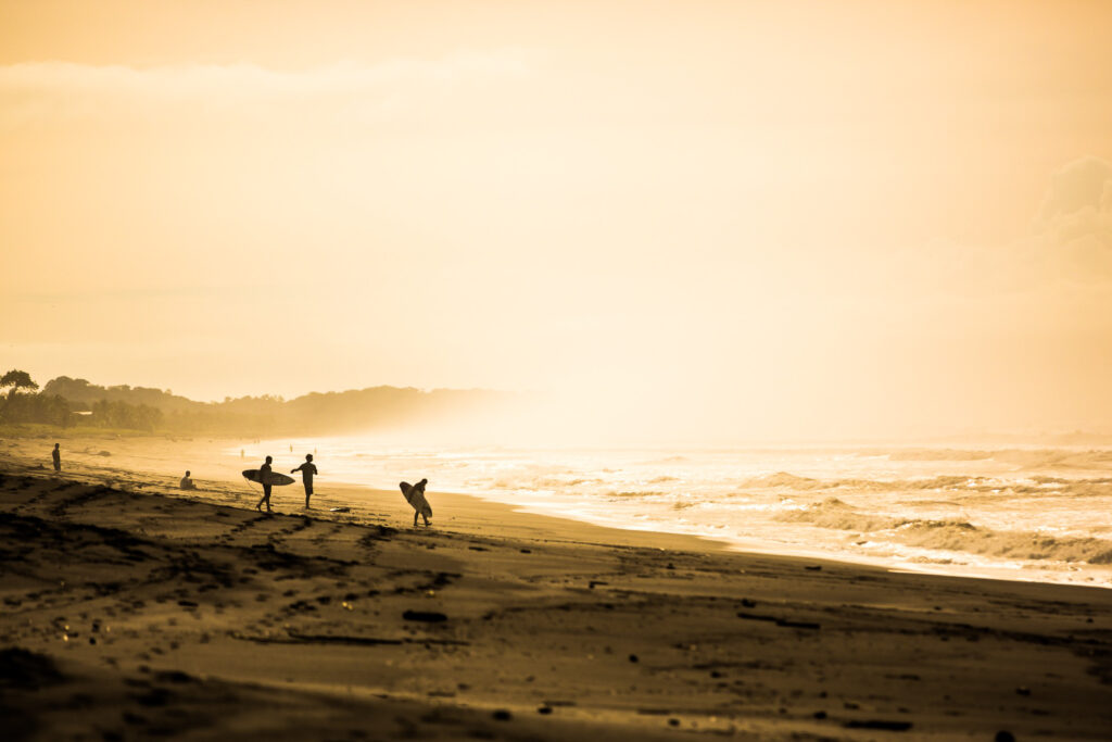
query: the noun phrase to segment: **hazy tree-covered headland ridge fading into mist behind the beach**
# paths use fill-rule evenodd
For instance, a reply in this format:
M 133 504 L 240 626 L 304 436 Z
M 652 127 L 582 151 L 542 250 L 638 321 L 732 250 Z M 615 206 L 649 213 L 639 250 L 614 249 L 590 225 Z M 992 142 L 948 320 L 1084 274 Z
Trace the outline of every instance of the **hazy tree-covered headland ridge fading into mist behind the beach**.
M 423 392 L 378 386 L 312 393 L 289 400 L 264 395 L 208 403 L 176 396 L 169 389 L 105 387 L 68 376 L 48 382 L 39 393 L 23 372 L 9 372 L 4 379 L 8 383 L 0 386 L 12 387 L 0 400 L 0 422 L 4 423 L 255 437 L 344 434 L 480 418 L 515 396 L 479 389 Z

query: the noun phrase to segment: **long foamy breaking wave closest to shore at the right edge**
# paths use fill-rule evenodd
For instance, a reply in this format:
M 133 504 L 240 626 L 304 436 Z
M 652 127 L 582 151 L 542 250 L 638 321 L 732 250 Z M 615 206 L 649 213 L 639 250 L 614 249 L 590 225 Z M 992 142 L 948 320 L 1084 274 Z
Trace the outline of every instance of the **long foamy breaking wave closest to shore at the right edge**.
M 906 546 L 1024 561 L 1112 564 L 1112 541 L 1090 536 L 1051 536 L 1024 531 L 993 531 L 965 521 L 895 518 L 865 513 L 836 497 L 782 513 L 777 520 L 821 528 L 853 531 Z

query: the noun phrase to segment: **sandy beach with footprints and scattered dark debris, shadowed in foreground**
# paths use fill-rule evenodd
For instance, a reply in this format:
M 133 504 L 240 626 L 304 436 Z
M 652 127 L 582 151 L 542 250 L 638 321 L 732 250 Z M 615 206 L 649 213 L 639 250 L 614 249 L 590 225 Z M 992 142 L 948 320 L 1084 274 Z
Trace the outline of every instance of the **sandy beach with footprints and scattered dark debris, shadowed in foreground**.
M 68 439 L 60 476 L 50 445 L 0 442 L 8 740 L 1112 738 L 1112 591 L 728 553 L 435 483 L 428 530 L 327 474 L 316 509 L 292 485 L 266 516 L 257 462 L 181 464 L 234 444 Z

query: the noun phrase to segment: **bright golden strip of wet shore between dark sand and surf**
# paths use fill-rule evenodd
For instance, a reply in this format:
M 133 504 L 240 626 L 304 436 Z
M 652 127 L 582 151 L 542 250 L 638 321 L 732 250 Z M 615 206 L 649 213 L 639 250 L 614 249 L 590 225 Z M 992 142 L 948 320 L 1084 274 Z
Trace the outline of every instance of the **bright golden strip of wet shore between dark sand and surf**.
M 63 474 L 76 474 L 79 477 L 86 477 L 90 483 L 123 482 L 146 491 L 161 487 L 171 496 L 197 497 L 205 502 L 226 504 L 231 502 L 246 503 L 252 496 L 256 498 L 252 502 L 257 502 L 261 496 L 260 487 L 246 482 L 240 475 L 242 468 L 255 467 L 260 461 L 256 461 L 256 457 L 252 456 L 240 458 L 229 453 L 236 448 L 260 445 L 254 441 L 235 437 L 120 436 L 117 434 L 78 435 L 62 439 L 68 439 L 76 446 L 82 447 L 80 452 L 69 454 L 67 465 L 63 466 Z M 49 467 L 49 447 L 40 443 L 43 441 L 52 441 L 52 438 L 36 436 L 33 438 L 0 439 L 0 462 L 7 457 L 12 464 L 33 471 L 32 462 L 38 458 L 40 462 L 46 462 L 46 466 Z M 279 451 L 275 456 L 277 461 L 282 461 L 288 455 L 296 457 L 297 463 L 300 463 L 298 454 L 285 453 L 284 446 L 287 444 L 280 444 L 277 441 L 261 443 L 275 444 L 271 448 Z M 110 456 L 99 455 L 103 447 L 112 449 L 108 451 Z M 182 462 L 186 463 L 182 464 Z M 188 462 L 203 462 L 201 465 L 210 475 L 197 476 L 195 472 L 195 482 L 205 485 L 197 492 L 180 491 L 177 484 L 180 474 L 172 474 L 175 466 L 190 467 Z M 276 466 L 278 466 L 277 472 L 285 473 L 284 461 Z M 183 473 L 185 468 L 181 471 Z M 171 473 L 168 474 L 168 472 Z M 272 502 L 295 504 L 292 508 L 285 507 L 282 512 L 286 513 L 302 512 L 298 504 L 302 502 L 304 491 L 300 477 L 295 476 L 295 478 L 297 481 L 291 485 L 274 488 Z M 322 488 L 321 484 L 324 484 Z M 312 503 L 318 506 L 315 507 L 312 514 L 317 516 L 321 514 L 320 507 L 348 506 L 351 507 L 349 522 L 364 522 L 369 517 L 371 520 L 366 522 L 385 523 L 386 521 L 376 518 L 389 520 L 396 513 L 399 516 L 398 522 L 391 522 L 391 525 L 396 527 L 408 526 L 410 522 L 407 522 L 407 518 L 413 516 L 411 508 L 395 488 L 379 488 L 357 482 L 332 481 L 326 474 L 317 479 L 317 489 L 318 493 L 312 498 Z M 761 543 L 736 543 L 713 535 L 624 527 L 620 524 L 605 525 L 594 520 L 579 520 L 564 514 L 529 509 L 526 505 L 514 505 L 481 494 L 431 491 L 430 497 L 434 501 L 433 506 L 436 513 L 433 526 L 434 528 L 447 526 L 448 533 L 451 533 L 453 525 L 470 533 L 478 527 L 489 528 L 492 524 L 498 524 L 498 528 L 505 531 L 503 535 L 509 537 L 523 537 L 526 534 L 540 537 L 547 534 L 550 538 L 570 541 L 579 540 L 580 534 L 589 533 L 594 534 L 592 538 L 598 544 L 761 554 L 772 557 L 875 568 L 893 574 L 907 573 L 1112 590 L 1112 583 L 1093 582 L 1093 577 L 1089 577 L 1088 581 L 1048 578 L 1044 574 L 1033 573 L 1029 570 L 983 564 L 940 566 L 930 563 L 897 562 L 868 555 L 855 558 L 853 554 L 832 554 L 823 550 L 780 551 L 776 547 L 763 546 Z

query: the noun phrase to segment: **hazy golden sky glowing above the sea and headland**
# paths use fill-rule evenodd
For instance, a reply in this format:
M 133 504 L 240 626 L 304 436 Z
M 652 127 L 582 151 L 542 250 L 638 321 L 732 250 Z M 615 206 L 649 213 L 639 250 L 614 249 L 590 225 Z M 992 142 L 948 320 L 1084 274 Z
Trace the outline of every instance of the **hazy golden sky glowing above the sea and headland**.
M 1109 29 L 3 0 L 0 366 L 546 389 L 677 441 L 1108 427 Z

